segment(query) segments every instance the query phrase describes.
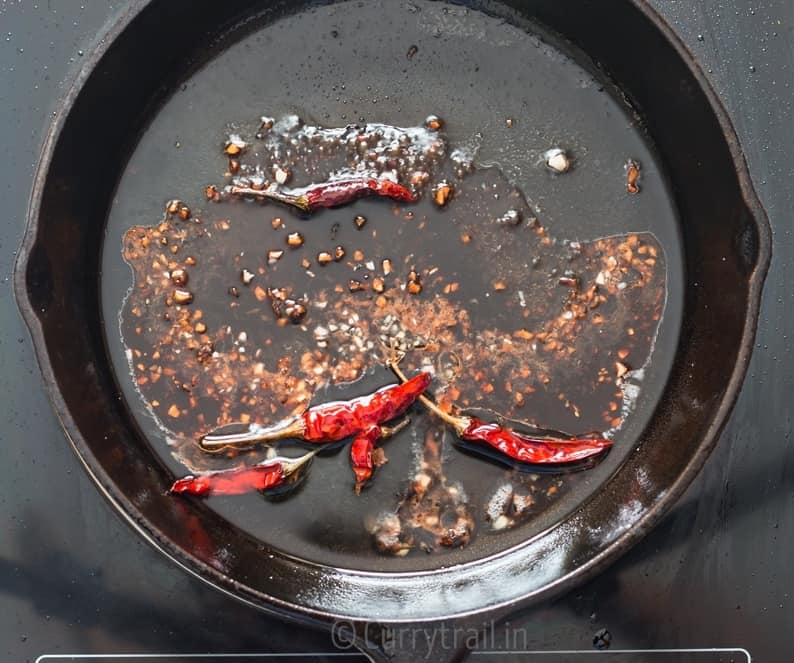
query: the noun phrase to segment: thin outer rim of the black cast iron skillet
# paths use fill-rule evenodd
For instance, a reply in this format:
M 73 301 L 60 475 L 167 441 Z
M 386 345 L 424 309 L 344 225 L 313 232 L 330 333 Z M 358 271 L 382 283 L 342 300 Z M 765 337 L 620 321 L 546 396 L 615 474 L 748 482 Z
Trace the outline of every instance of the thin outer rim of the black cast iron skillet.
M 659 519 L 666 513 L 666 511 L 675 503 L 677 498 L 683 493 L 686 487 L 696 476 L 697 472 L 702 467 L 712 448 L 719 439 L 719 434 L 724 427 L 730 411 L 738 397 L 741 385 L 744 380 L 747 365 L 752 354 L 752 342 L 754 338 L 754 331 L 758 319 L 758 311 L 761 299 L 761 289 L 763 286 L 764 276 L 768 269 L 771 260 L 771 233 L 766 218 L 766 213 L 761 206 L 760 201 L 754 191 L 747 165 L 744 160 L 744 155 L 739 144 L 738 137 L 735 133 L 733 125 L 723 108 L 718 96 L 711 88 L 704 73 L 695 64 L 694 57 L 677 37 L 674 31 L 666 24 L 661 16 L 647 3 L 646 0 L 628 0 L 636 9 L 650 21 L 653 26 L 661 33 L 661 35 L 673 46 L 678 56 L 686 63 L 690 73 L 697 81 L 701 90 L 705 94 L 710 110 L 717 119 L 717 122 L 725 138 L 727 147 L 730 152 L 733 166 L 735 167 L 738 177 L 738 183 L 741 190 L 742 198 L 747 210 L 752 215 L 758 233 L 758 246 L 757 246 L 757 259 L 756 265 L 752 273 L 748 277 L 748 296 L 747 296 L 747 316 L 745 319 L 744 327 L 742 329 L 742 345 L 738 349 L 736 362 L 731 372 L 731 377 L 726 385 L 723 397 L 720 400 L 719 406 L 716 408 L 713 419 L 709 423 L 705 433 L 703 434 L 700 444 L 698 445 L 695 453 L 690 457 L 689 462 L 686 464 L 685 469 L 678 475 L 672 485 L 665 491 L 664 495 L 657 499 L 652 506 L 645 510 L 642 516 L 637 519 L 631 527 L 622 531 L 614 540 L 610 541 L 605 547 L 596 555 L 586 559 L 582 564 L 575 566 L 569 573 L 555 578 L 553 581 L 546 583 L 539 589 L 531 590 L 529 592 L 517 593 L 511 596 L 501 597 L 495 602 L 484 602 L 483 604 L 466 606 L 462 610 L 452 610 L 438 614 L 420 615 L 419 619 L 422 621 L 433 621 L 439 619 L 446 619 L 449 617 L 467 617 L 492 611 L 501 607 L 507 607 L 516 603 L 526 603 L 530 599 L 537 600 L 540 597 L 548 598 L 551 595 L 558 594 L 565 589 L 580 583 L 586 578 L 591 577 L 599 570 L 603 569 L 610 561 L 614 560 L 620 554 L 625 552 L 628 548 L 638 542 Z M 123 10 L 117 17 L 116 22 L 109 28 L 104 35 L 104 39 L 100 45 L 92 52 L 87 58 L 86 63 L 77 74 L 72 86 L 61 100 L 59 111 L 56 113 L 52 124 L 46 134 L 43 142 L 39 165 L 36 171 L 33 188 L 31 192 L 30 204 L 28 208 L 27 227 L 25 235 L 20 246 L 17 263 L 14 273 L 14 290 L 18 306 L 22 316 L 30 330 L 36 351 L 36 357 L 42 371 L 44 380 L 48 384 L 56 382 L 53 367 L 50 363 L 49 357 L 44 348 L 45 337 L 42 325 L 37 317 L 36 311 L 28 298 L 28 290 L 26 283 L 26 265 L 30 257 L 31 251 L 35 245 L 39 213 L 42 195 L 44 192 L 45 184 L 47 182 L 52 158 L 61 131 L 64 127 L 66 118 L 69 116 L 75 100 L 78 98 L 84 84 L 90 77 L 91 73 L 96 68 L 97 64 L 102 60 L 110 45 L 132 22 L 132 20 L 149 4 L 151 0 L 134 0 L 130 3 L 125 10 Z M 57 390 L 48 390 L 49 397 L 52 401 L 54 410 L 58 415 L 64 433 L 69 439 L 72 447 L 74 448 L 78 458 L 85 467 L 89 476 L 97 484 L 100 491 L 110 501 L 118 513 L 147 541 L 149 541 L 155 548 L 157 548 L 166 557 L 171 559 L 177 565 L 195 575 L 199 579 L 207 582 L 220 589 L 221 591 L 242 600 L 250 605 L 258 608 L 267 609 L 277 614 L 286 617 L 300 617 L 303 621 L 315 622 L 322 624 L 330 620 L 343 617 L 345 619 L 352 619 L 353 621 L 363 622 L 365 618 L 361 615 L 350 617 L 343 614 L 335 614 L 329 609 L 318 609 L 314 606 L 308 606 L 299 603 L 299 598 L 292 597 L 293 600 L 286 601 L 270 595 L 264 591 L 256 590 L 235 581 L 233 578 L 224 575 L 217 569 L 214 569 L 205 563 L 199 561 L 195 557 L 189 555 L 181 548 L 177 548 L 166 537 L 160 535 L 156 530 L 148 528 L 148 522 L 141 515 L 138 509 L 128 500 L 128 498 L 117 491 L 113 482 L 105 472 L 105 470 L 96 462 L 89 446 L 82 439 L 81 433 L 72 419 L 68 406 L 65 403 L 62 395 Z M 573 520 L 573 519 L 572 519 Z M 543 533 L 539 538 L 546 537 L 551 531 Z M 529 544 L 530 542 L 527 542 Z M 417 578 L 427 577 L 429 581 L 423 589 L 432 591 L 433 581 L 440 580 L 440 576 L 447 575 L 450 588 L 458 588 L 465 586 L 466 572 L 473 570 L 475 576 L 479 571 L 480 577 L 475 577 L 475 580 L 488 580 L 492 584 L 497 580 L 498 569 L 493 568 L 493 562 L 499 560 L 504 562 L 519 562 L 516 566 L 526 571 L 527 565 L 532 567 L 531 559 L 515 560 L 513 558 L 519 557 L 522 550 L 526 552 L 528 545 L 522 544 L 513 549 L 497 553 L 495 555 L 477 560 L 475 562 L 461 565 L 462 567 L 439 569 L 435 571 L 416 572 L 416 573 L 400 573 L 400 574 L 379 574 L 370 572 L 356 572 L 348 570 L 336 570 L 340 576 L 338 582 L 344 585 L 349 583 L 351 579 L 358 579 L 359 586 L 363 584 L 374 585 L 378 581 L 388 584 L 383 585 L 383 588 L 394 589 L 394 585 L 398 583 L 399 578 Z M 536 551 L 535 551 L 536 552 Z M 535 552 L 530 551 L 531 557 Z M 524 555 L 526 558 L 527 555 Z M 295 562 L 298 562 L 295 560 Z M 523 562 L 523 566 L 520 564 Z M 305 561 L 298 562 L 301 566 L 306 567 L 304 573 L 309 575 L 315 574 L 318 578 L 323 572 L 331 571 L 328 567 L 313 565 Z M 513 570 L 516 566 L 511 567 Z M 519 569 L 520 570 L 520 569 Z M 486 576 L 486 577 L 484 577 Z M 487 578 L 490 576 L 490 578 Z M 511 576 L 503 576 L 501 579 L 510 578 Z M 372 589 L 372 587 L 370 587 Z M 421 588 L 420 588 L 421 589 Z M 462 603 L 465 603 L 463 601 Z M 394 611 L 392 611 L 394 612 Z M 385 621 L 390 623 L 411 622 L 417 621 L 417 616 L 409 615 L 403 616 L 404 613 L 399 611 L 395 614 L 382 615 Z M 373 615 L 373 618 L 380 617 L 381 615 Z

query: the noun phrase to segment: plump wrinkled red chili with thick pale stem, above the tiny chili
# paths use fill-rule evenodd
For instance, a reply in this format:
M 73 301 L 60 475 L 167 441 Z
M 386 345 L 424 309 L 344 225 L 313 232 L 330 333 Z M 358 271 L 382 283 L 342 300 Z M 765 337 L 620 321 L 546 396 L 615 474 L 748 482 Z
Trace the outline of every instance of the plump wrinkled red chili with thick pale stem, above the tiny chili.
M 219 432 L 225 427 L 216 429 L 199 441 L 199 447 L 217 452 L 288 437 L 315 443 L 338 442 L 397 418 L 429 384 L 430 374 L 419 373 L 410 380 L 405 378 L 403 384 L 389 385 L 367 396 L 310 407 L 303 414 L 273 426 L 254 424 L 242 433 Z

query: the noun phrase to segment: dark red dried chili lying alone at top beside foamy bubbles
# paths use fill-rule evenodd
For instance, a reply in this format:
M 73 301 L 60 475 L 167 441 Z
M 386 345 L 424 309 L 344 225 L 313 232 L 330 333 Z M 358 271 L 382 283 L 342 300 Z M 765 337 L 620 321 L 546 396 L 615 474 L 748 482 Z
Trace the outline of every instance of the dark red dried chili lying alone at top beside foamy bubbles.
M 267 189 L 254 189 L 232 185 L 227 190 L 233 196 L 269 198 L 285 205 L 292 205 L 304 212 L 313 212 L 321 207 L 339 207 L 370 194 L 407 203 L 416 200 L 410 189 L 402 184 L 374 177 L 340 179 L 322 184 L 311 184 L 300 189 L 280 189 L 273 186 Z

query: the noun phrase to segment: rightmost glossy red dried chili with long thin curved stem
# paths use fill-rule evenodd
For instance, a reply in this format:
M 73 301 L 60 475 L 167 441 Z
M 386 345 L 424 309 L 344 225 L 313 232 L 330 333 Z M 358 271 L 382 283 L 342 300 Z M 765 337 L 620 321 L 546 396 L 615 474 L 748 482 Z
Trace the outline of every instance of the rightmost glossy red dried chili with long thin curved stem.
M 389 366 L 401 380 L 405 375 L 397 362 L 389 360 Z M 455 416 L 444 412 L 425 396 L 419 400 L 434 414 L 450 424 L 463 440 L 485 443 L 508 458 L 533 465 L 561 465 L 575 463 L 598 455 L 612 446 L 605 438 L 549 438 L 519 433 L 497 423 L 486 422 L 477 417 Z

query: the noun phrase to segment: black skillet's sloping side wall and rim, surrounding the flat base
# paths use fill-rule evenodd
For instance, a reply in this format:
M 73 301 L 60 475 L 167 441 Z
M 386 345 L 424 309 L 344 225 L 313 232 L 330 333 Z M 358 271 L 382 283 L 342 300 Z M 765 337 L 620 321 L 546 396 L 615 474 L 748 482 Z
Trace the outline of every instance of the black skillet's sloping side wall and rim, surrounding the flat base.
M 119 512 L 180 566 L 237 598 L 319 624 L 350 620 L 359 630 L 367 620 L 495 614 L 546 598 L 647 533 L 725 423 L 750 355 L 771 249 L 724 110 L 691 55 L 642 0 L 506 4 L 586 53 L 641 116 L 682 220 L 684 322 L 664 396 L 620 470 L 541 536 L 470 564 L 346 571 L 271 551 L 211 512 L 199 520 L 165 495 L 172 476 L 138 433 L 107 361 L 101 229 L 136 137 L 230 29 L 245 31 L 263 9 L 277 15 L 295 8 L 254 0 L 131 3 L 62 102 L 42 151 L 15 275 L 45 382 L 77 454 Z M 187 25 L 189 37 L 180 32 Z M 621 506 L 629 498 L 627 520 Z M 195 545 L 197 537 L 206 545 Z M 223 564 L 208 552 L 221 543 L 233 551 Z

